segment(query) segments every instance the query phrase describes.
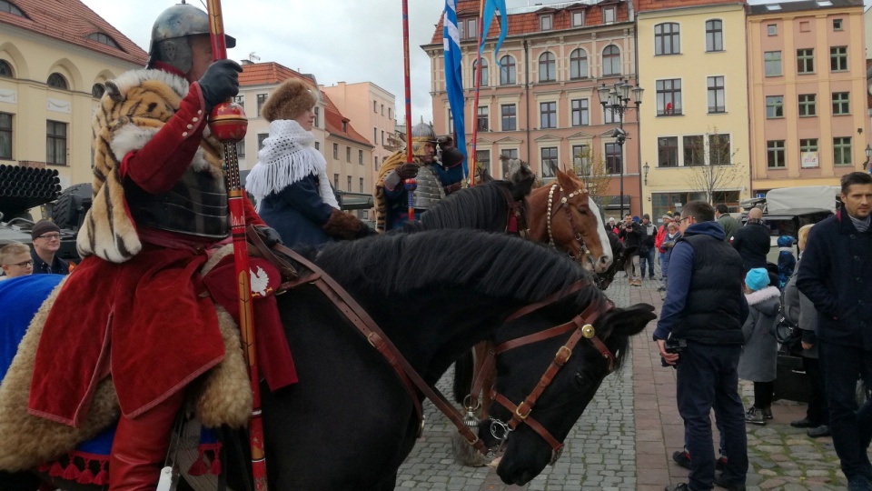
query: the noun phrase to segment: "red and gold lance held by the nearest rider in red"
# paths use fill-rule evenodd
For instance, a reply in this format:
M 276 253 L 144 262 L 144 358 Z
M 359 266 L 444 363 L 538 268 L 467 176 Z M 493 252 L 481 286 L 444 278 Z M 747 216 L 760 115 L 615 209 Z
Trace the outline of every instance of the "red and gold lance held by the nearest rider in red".
M 227 45 L 224 38 L 224 24 L 219 0 L 207 0 L 209 12 L 209 35 L 212 39 L 214 61 L 227 58 Z M 245 239 L 245 207 L 243 199 L 248 199 L 239 176 L 239 158 L 236 142 L 243 139 L 248 123 L 242 107 L 223 103 L 213 109 L 210 115 L 213 134 L 224 146 L 224 165 L 227 173 L 228 207 L 230 208 L 230 232 L 233 237 L 233 263 L 239 294 L 239 328 L 243 344 L 243 354 L 249 368 L 252 385 L 253 410 L 249 423 L 249 443 L 252 447 L 252 469 L 254 486 L 257 491 L 267 491 L 266 456 L 263 451 L 263 420 L 261 414 L 260 375 L 257 369 L 257 346 L 253 322 L 252 286 L 248 265 L 248 242 Z

